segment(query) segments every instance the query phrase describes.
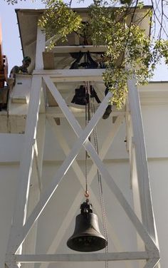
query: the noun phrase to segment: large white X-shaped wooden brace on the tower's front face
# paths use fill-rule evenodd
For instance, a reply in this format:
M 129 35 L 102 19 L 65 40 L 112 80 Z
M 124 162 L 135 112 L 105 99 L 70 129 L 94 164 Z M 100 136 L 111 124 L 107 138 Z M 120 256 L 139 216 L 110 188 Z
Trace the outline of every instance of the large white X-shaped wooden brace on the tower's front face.
M 100 158 L 98 158 L 97 153 L 95 153 L 93 146 L 88 141 L 85 141 L 88 138 L 90 131 L 94 128 L 94 125 L 96 125 L 100 117 L 103 115 L 103 111 L 105 110 L 105 107 L 107 107 L 107 98 L 110 97 L 110 93 L 107 94 L 105 100 L 103 100 L 103 103 L 100 104 L 100 108 L 96 111 L 95 115 L 90 120 L 90 123 L 87 125 L 85 130 L 82 131 L 80 128 L 80 125 L 78 125 L 78 122 L 75 120 L 75 118 L 73 118 L 73 115 L 68 110 L 68 107 L 65 104 L 65 101 L 60 96 L 60 93 L 58 93 L 58 91 L 56 90 L 56 86 L 54 86 L 50 78 L 45 76 L 44 80 L 46 81 L 48 88 L 50 88 L 51 93 L 53 94 L 54 98 L 56 98 L 56 101 L 58 102 L 61 109 L 63 110 L 65 117 L 68 119 L 68 121 L 70 122 L 70 125 L 75 130 L 75 133 L 80 138 L 78 139 L 77 143 L 75 143 L 75 145 L 73 146 L 73 149 L 71 150 L 71 154 L 68 155 L 68 158 L 65 159 L 63 165 L 58 170 L 57 177 L 55 181 L 53 182 L 53 185 L 51 184 L 51 186 L 48 187 L 48 190 L 46 190 L 45 194 L 43 195 L 39 204 L 37 205 L 36 210 L 33 211 L 32 215 L 29 217 L 28 221 L 26 222 L 26 225 L 23 227 L 23 235 L 21 236 L 19 243 L 23 241 L 23 239 L 26 237 L 26 234 L 29 232 L 30 228 L 32 227 L 33 223 L 37 220 L 38 216 L 41 214 L 43 208 L 46 206 L 48 200 L 52 196 L 53 192 L 56 190 L 56 187 L 58 187 L 58 182 L 61 180 L 61 177 L 63 177 L 66 170 L 69 168 L 69 165 L 75 159 L 74 158 L 75 153 L 78 153 L 78 150 L 80 149 L 80 145 L 81 143 L 83 143 L 85 145 L 86 150 L 88 150 L 88 153 L 90 153 L 90 156 L 93 158 L 95 165 L 97 165 L 98 169 L 100 170 L 100 173 L 106 179 L 107 184 L 111 188 L 112 192 L 115 194 L 115 197 L 117 197 L 117 200 L 120 202 L 120 205 L 122 205 L 128 217 L 130 217 L 130 220 L 132 221 L 133 225 L 135 225 L 137 232 L 140 234 L 140 236 L 144 240 L 147 248 L 150 250 L 155 250 L 156 251 L 155 253 L 157 254 L 156 245 L 154 244 L 152 239 L 149 237 L 149 234 L 144 229 L 143 225 L 141 224 L 140 220 L 137 218 L 137 216 L 133 212 L 127 200 L 125 200 L 125 197 L 122 195 L 122 192 L 115 184 L 109 172 L 105 169 L 102 161 L 100 160 Z M 83 133 L 82 135 L 81 135 L 81 132 Z

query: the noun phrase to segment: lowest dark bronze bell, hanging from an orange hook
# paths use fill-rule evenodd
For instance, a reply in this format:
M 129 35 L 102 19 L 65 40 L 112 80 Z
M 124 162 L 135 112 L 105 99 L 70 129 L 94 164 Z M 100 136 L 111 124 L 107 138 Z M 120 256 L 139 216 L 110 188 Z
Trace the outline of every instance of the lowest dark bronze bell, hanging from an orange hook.
M 80 209 L 75 230 L 67 242 L 68 247 L 78 252 L 95 252 L 105 248 L 107 240 L 100 233 L 98 216 L 93 213 L 92 205 L 86 200 Z

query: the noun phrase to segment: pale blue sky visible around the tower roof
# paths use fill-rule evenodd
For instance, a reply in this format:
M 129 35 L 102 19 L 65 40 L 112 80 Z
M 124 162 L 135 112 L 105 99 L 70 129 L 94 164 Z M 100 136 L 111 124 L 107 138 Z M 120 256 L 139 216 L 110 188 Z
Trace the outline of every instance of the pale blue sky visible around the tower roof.
M 80 6 L 87 6 L 90 0 L 80 2 Z M 75 1 L 73 6 L 75 6 Z M 79 4 L 78 4 L 79 6 Z M 15 65 L 21 66 L 23 53 L 21 51 L 21 39 L 19 38 L 19 27 L 17 25 L 15 9 L 43 9 L 45 6 L 40 0 L 19 1 L 18 4 L 9 5 L 4 0 L 0 0 L 0 21 L 2 28 L 3 53 L 7 56 L 9 62 L 9 72 Z M 162 63 L 157 66 L 152 81 L 168 81 L 168 67 Z

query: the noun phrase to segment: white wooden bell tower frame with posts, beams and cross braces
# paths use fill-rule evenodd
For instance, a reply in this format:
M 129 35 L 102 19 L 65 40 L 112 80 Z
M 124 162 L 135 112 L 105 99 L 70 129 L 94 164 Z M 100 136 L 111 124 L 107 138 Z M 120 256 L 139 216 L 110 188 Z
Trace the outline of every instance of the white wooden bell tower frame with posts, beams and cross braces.
M 26 12 L 27 14 L 25 15 L 24 11 L 22 11 L 24 16 L 28 16 L 28 11 Z M 32 11 L 30 11 L 30 13 L 31 12 Z M 34 13 L 36 14 L 36 11 L 34 11 Z M 24 264 L 32 265 L 36 263 L 38 263 L 41 268 L 54 263 L 56 263 L 57 266 L 63 265 L 63 267 L 70 267 L 74 262 L 79 265 L 83 265 L 83 263 L 86 262 L 86 264 L 89 263 L 89 265 L 96 265 L 96 267 L 98 267 L 98 262 L 102 264 L 105 261 L 108 261 L 109 267 L 159 267 L 159 247 L 157 244 L 157 233 L 152 208 L 140 97 L 137 91 L 136 81 L 132 79 L 132 81 L 127 82 L 129 89 L 127 103 L 122 110 L 116 110 L 115 106 L 112 106 L 112 115 L 110 115 L 110 118 L 108 120 L 102 119 L 105 108 L 107 108 L 108 105 L 108 99 L 111 96 L 111 93 L 108 93 L 105 98 L 102 98 L 102 102 L 98 105 L 88 125 L 82 128 L 77 118 L 83 118 L 83 109 L 70 107 L 68 101 L 65 101 L 68 100 L 65 88 L 67 88 L 70 83 L 78 85 L 79 83 L 83 83 L 83 81 L 89 81 L 98 92 L 100 92 L 100 89 L 103 88 L 103 70 L 46 70 L 43 68 L 43 52 L 45 51 L 45 46 L 45 35 L 41 29 L 38 28 L 36 39 L 36 65 L 32 77 L 30 77 L 31 90 L 28 100 L 25 133 L 23 134 L 24 143 L 19 168 L 18 194 L 16 195 L 15 210 L 11 232 L 9 234 L 9 243 L 6 250 L 6 267 L 14 268 Z M 57 46 L 55 49 L 53 53 L 64 53 L 65 58 L 70 52 L 105 51 L 104 46 Z M 65 58 L 64 60 L 66 60 Z M 27 78 L 21 77 L 21 79 L 24 81 L 24 79 Z M 60 85 L 62 85 L 62 87 Z M 16 93 L 18 86 L 19 84 L 16 83 L 14 91 L 11 93 L 9 118 L 12 109 L 14 109 L 14 105 L 16 105 L 14 100 L 19 99 Z M 48 92 L 51 93 L 53 101 L 56 103 L 53 107 L 46 103 Z M 65 98 L 63 94 L 66 95 Z M 21 107 L 23 107 L 23 103 L 18 103 L 17 105 L 18 108 L 20 107 L 20 115 L 22 115 Z M 115 120 L 112 122 L 112 117 L 114 116 Z M 74 132 L 75 139 L 73 140 L 75 140 L 75 142 L 73 144 L 70 144 L 69 140 L 65 140 L 64 131 L 66 125 L 64 124 L 64 130 L 63 128 L 61 129 L 60 120 L 62 118 L 63 120 L 66 118 L 66 124 L 69 124 Z M 65 154 L 65 159 L 58 161 L 58 167 L 53 176 L 53 180 L 50 180 L 50 182 L 47 182 L 46 185 L 43 186 L 43 153 L 45 150 L 45 133 L 48 123 L 53 132 L 52 135 L 56 136 L 57 143 L 59 143 L 59 146 L 61 146 Z M 104 129 L 105 136 L 101 143 L 99 155 L 95 152 L 95 148 L 88 139 L 93 128 L 98 124 L 99 128 L 101 128 L 101 124 L 103 124 L 103 128 L 107 128 L 107 130 Z M 132 202 L 130 202 L 130 200 L 128 201 L 127 197 L 125 197 L 120 183 L 116 183 L 111 168 L 107 168 L 107 163 L 105 162 L 105 155 L 112 146 L 123 124 L 125 124 L 125 145 L 130 159 L 130 177 L 128 181 L 130 180 L 129 187 L 132 192 L 130 200 L 132 200 Z M 99 135 L 101 135 L 101 133 Z M 83 174 L 83 168 L 80 167 L 80 161 L 77 160 L 81 148 L 85 148 L 85 150 L 88 151 L 90 160 L 93 161 L 93 165 L 90 164 L 88 183 L 90 186 L 90 199 L 91 202 L 93 202 L 93 208 L 95 208 L 100 218 L 100 222 L 100 205 L 98 197 L 95 194 L 94 183 L 92 183 L 97 169 L 100 171 L 103 177 L 103 183 L 105 183 L 107 189 L 107 193 L 104 192 L 104 195 L 106 196 L 107 194 L 107 196 L 109 196 L 109 192 L 111 192 L 112 198 L 115 198 L 115 202 L 120 206 L 123 215 L 126 217 L 125 222 L 121 222 L 120 220 L 122 218 L 120 217 L 117 219 L 117 213 L 114 208 L 112 208 L 113 212 L 110 212 L 110 206 L 113 206 L 113 201 L 110 199 L 108 201 L 106 200 L 108 207 L 107 230 L 110 240 L 115 244 L 115 251 L 113 250 L 114 247 L 109 246 L 109 251 L 106 253 L 96 252 L 80 254 L 75 252 L 74 254 L 72 251 L 67 251 L 68 249 L 65 243 L 65 251 L 61 253 L 57 251 L 59 244 L 64 241 L 65 232 L 68 232 L 70 222 L 74 219 L 75 215 L 77 215 L 80 202 L 82 202 L 83 199 L 85 175 Z M 120 168 L 120 165 L 118 165 L 118 167 Z M 41 215 L 43 215 L 46 210 L 52 210 L 52 207 L 48 208 L 51 197 L 58 195 L 60 189 L 59 185 L 65 180 L 65 175 L 69 169 L 73 170 L 75 180 L 78 181 L 80 187 L 78 192 L 73 196 L 73 202 L 70 204 L 67 202 L 67 213 L 62 216 L 61 214 L 59 215 L 59 217 L 62 217 L 61 225 L 59 225 L 57 233 L 53 234 L 54 238 L 48 250 L 45 253 L 44 250 L 40 252 L 40 246 L 38 245 L 38 250 L 36 247 L 38 236 L 43 237 L 45 240 L 45 232 L 48 232 L 48 226 L 46 226 L 46 230 L 43 230 L 43 232 L 39 234 L 38 228 Z M 33 190 L 31 189 L 32 184 L 35 185 Z M 65 192 L 67 192 L 67 187 L 73 187 L 73 185 L 68 184 L 68 182 L 64 182 L 63 185 L 65 185 Z M 66 198 L 68 200 L 68 196 L 64 194 L 63 186 L 61 190 L 63 202 L 65 202 Z M 61 205 L 62 200 L 59 196 L 59 202 L 57 202 L 55 206 L 61 207 Z M 120 215 L 120 213 L 118 215 Z M 132 250 L 125 250 L 125 247 L 122 247 L 122 242 L 120 242 L 119 237 L 117 237 L 112 227 L 112 217 L 115 217 L 116 222 L 118 220 L 118 229 L 120 229 L 121 232 L 124 232 L 127 222 L 130 222 L 130 226 L 132 226 L 132 237 L 130 237 L 130 244 L 132 244 L 132 246 L 130 245 L 130 248 L 132 247 Z M 69 232 L 69 236 L 70 234 Z

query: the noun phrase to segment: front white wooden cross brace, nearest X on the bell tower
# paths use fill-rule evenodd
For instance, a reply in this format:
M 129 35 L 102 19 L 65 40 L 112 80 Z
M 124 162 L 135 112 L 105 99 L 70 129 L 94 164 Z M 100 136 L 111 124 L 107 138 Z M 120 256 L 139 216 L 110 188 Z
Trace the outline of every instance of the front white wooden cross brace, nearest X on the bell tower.
M 39 81 L 39 80 L 38 80 Z M 61 182 L 61 179 L 67 172 L 68 168 L 70 168 L 70 165 L 72 165 L 73 161 L 75 160 L 76 156 L 78 155 L 80 148 L 84 146 L 85 150 L 88 151 L 90 157 L 92 158 L 93 162 L 97 166 L 98 170 L 100 171 L 101 175 L 103 175 L 105 181 L 107 182 L 107 185 L 110 187 L 110 190 L 112 190 L 113 194 L 117 198 L 118 202 L 122 206 L 122 208 L 125 210 L 127 216 L 130 218 L 132 224 L 135 226 L 135 229 L 137 230 L 138 234 L 140 234 L 140 237 L 145 242 L 145 247 L 149 252 L 152 252 L 154 256 L 158 259 L 158 249 L 155 243 L 153 242 L 152 238 L 149 236 L 148 232 L 146 231 L 145 227 L 142 225 L 140 220 L 138 219 L 137 215 L 135 215 L 135 212 L 132 210 L 132 207 L 130 207 L 130 204 L 125 199 L 124 195 L 122 195 L 122 192 L 119 187 L 117 187 L 115 181 L 111 177 L 108 170 L 105 168 L 105 165 L 103 165 L 102 160 L 98 156 L 98 154 L 95 152 L 95 148 L 93 148 L 93 145 L 88 140 L 88 137 L 90 133 L 93 131 L 93 128 L 98 123 L 98 120 L 102 117 L 105 108 L 107 108 L 108 105 L 108 99 L 111 96 L 111 93 L 108 93 L 107 96 L 104 98 L 103 102 L 100 104 L 98 110 L 96 110 L 95 115 L 93 115 L 93 118 L 91 118 L 88 125 L 85 127 L 84 130 L 80 127 L 78 124 L 78 121 L 75 120 L 75 117 L 68 109 L 68 106 L 65 103 L 65 100 L 61 97 L 61 94 L 58 92 L 56 86 L 51 81 L 51 78 L 49 76 L 43 76 L 43 81 L 46 83 L 46 86 L 48 86 L 48 89 L 51 91 L 53 97 L 56 99 L 59 107 L 63 111 L 65 118 L 67 118 L 68 122 L 70 123 L 71 127 L 75 131 L 75 134 L 78 136 L 78 140 L 73 145 L 72 150 L 68 154 L 68 157 L 65 158 L 63 164 L 58 169 L 56 177 L 54 178 L 53 182 L 49 185 L 49 187 L 46 189 L 45 192 L 41 195 L 41 199 L 39 200 L 38 204 L 34 208 L 31 215 L 26 220 L 23 227 L 21 227 L 21 230 L 19 233 L 15 234 L 15 243 L 13 244 L 13 254 L 16 254 L 17 250 L 23 243 L 24 239 L 26 238 L 28 232 L 31 230 L 31 227 L 33 227 L 33 224 L 38 220 L 38 217 L 41 215 L 41 212 L 46 207 L 48 201 L 51 199 L 53 193 L 56 191 L 59 182 Z M 38 107 L 38 106 L 37 106 Z M 39 108 L 39 107 L 38 107 Z M 38 112 L 38 108 L 36 110 L 36 113 Z M 145 266 L 145 268 L 148 266 Z

